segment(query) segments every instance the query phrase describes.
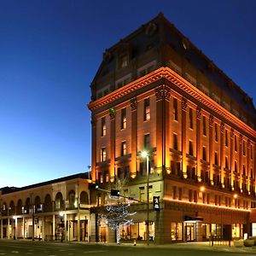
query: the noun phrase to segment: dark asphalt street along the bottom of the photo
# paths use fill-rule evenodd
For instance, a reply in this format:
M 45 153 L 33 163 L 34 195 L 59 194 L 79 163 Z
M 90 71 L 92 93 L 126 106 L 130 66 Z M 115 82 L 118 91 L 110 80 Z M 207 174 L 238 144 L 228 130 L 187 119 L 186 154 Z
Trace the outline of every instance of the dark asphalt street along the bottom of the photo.
M 154 245 L 137 246 L 132 245 L 99 245 L 82 243 L 56 243 L 44 241 L 0 241 L 0 256 L 35 255 L 35 256 L 66 256 L 66 255 L 92 255 L 92 256 L 238 256 L 240 253 L 218 252 L 196 247 L 154 247 Z M 255 253 L 246 253 L 247 256 L 255 256 Z

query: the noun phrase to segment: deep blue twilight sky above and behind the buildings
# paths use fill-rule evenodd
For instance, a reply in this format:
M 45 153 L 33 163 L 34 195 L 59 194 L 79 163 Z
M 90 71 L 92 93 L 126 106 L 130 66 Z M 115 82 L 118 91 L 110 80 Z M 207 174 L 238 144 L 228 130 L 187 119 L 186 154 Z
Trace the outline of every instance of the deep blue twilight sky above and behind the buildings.
M 163 12 L 256 100 L 254 0 L 0 0 L 0 188 L 87 171 L 102 52 Z

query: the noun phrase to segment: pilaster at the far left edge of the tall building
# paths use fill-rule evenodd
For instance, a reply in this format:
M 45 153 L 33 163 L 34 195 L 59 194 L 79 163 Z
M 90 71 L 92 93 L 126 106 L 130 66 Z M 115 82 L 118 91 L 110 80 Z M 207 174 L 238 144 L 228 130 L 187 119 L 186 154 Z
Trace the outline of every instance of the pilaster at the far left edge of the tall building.
M 96 117 L 91 116 L 91 179 L 96 182 Z

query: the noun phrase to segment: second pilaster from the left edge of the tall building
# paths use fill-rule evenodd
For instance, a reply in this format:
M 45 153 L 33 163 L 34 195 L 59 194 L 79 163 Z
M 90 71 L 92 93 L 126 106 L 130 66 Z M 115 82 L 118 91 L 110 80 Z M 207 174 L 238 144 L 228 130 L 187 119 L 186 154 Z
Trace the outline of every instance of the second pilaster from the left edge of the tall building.
M 110 181 L 114 182 L 115 176 L 115 109 L 109 109 L 110 116 L 110 169 L 109 169 L 109 177 Z

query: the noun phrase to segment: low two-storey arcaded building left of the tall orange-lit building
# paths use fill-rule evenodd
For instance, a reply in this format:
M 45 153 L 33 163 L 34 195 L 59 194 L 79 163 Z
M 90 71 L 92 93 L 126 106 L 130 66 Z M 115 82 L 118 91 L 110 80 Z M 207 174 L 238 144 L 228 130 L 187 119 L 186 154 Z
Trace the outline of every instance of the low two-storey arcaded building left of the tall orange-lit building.
M 95 236 L 89 179 L 80 173 L 23 188 L 0 189 L 0 238 L 89 241 Z

